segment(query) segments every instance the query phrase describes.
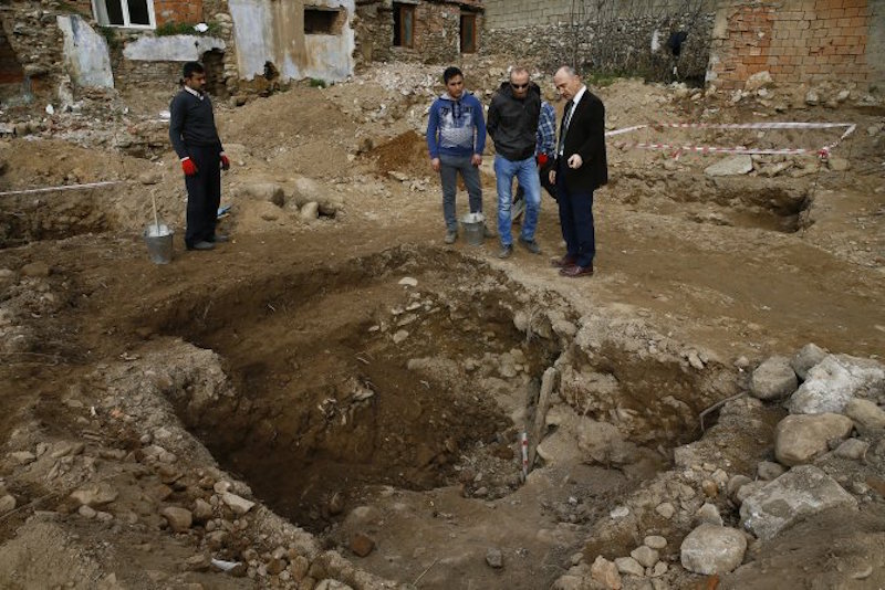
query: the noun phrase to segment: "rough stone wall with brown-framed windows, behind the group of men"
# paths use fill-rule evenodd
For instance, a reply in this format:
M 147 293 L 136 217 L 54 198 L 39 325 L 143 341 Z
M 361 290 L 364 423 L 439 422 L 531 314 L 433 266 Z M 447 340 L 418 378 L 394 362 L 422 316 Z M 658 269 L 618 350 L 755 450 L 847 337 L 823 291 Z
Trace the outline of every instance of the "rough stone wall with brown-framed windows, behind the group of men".
M 450 63 L 460 55 L 461 13 L 477 18 L 477 48 L 482 45 L 483 14 L 473 10 L 478 0 L 461 2 L 415 3 L 415 30 L 412 48 L 394 46 L 393 2 L 379 0 L 357 4 L 356 54 L 361 63 L 387 60 Z

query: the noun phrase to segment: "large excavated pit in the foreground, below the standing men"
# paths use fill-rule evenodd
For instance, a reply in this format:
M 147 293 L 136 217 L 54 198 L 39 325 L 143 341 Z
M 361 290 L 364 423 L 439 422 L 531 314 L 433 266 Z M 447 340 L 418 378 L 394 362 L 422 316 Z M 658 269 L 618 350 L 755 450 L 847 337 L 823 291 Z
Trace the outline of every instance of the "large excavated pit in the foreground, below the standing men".
M 394 249 L 189 294 L 168 309 L 158 331 L 214 350 L 230 378 L 231 393 L 211 404 L 173 396 L 187 428 L 327 546 L 352 555 L 353 535 L 382 539 L 384 557 L 361 567 L 403 581 L 424 562 L 409 551 L 466 551 L 447 546 L 455 530 L 479 551 L 498 536 L 492 520 L 509 542 L 565 562 L 593 523 L 666 468 L 669 449 L 699 436 L 699 412 L 726 393 L 715 365 L 699 377 L 685 359 L 633 347 L 649 341 L 638 326 L 607 328 L 623 346 L 582 348 L 559 295 L 452 251 Z M 554 365 L 556 409 L 538 436 L 539 390 Z M 624 440 L 611 449 L 576 442 L 613 424 Z M 528 480 L 523 430 L 532 447 L 546 443 Z M 471 516 L 490 507 L 496 515 Z M 527 560 L 509 576 L 534 588 L 555 571 Z M 425 582 L 446 588 L 450 576 Z

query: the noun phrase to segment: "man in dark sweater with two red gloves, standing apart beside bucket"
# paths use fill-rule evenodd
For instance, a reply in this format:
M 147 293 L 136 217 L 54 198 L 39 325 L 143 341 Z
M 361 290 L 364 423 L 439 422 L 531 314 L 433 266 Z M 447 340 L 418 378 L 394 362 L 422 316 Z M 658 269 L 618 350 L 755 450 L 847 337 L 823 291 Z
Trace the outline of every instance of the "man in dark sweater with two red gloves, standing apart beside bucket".
M 187 62 L 181 92 L 169 105 L 169 140 L 181 159 L 187 187 L 188 250 L 212 250 L 227 235 L 216 233 L 218 206 L 221 202 L 221 169 L 230 160 L 221 147 L 215 126 L 212 103 L 206 96 L 206 70 L 199 62 Z

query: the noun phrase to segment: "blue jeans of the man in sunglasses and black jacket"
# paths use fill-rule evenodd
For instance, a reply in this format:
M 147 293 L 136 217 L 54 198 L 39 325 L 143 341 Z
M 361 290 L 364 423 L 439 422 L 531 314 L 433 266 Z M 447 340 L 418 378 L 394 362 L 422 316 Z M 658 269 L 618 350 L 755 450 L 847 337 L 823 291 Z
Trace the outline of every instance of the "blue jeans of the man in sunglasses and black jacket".
M 519 180 L 519 186 L 525 190 L 525 219 L 522 221 L 521 238 L 525 241 L 534 240 L 534 229 L 538 226 L 538 213 L 541 211 L 541 181 L 538 178 L 538 166 L 534 157 L 524 160 L 508 160 L 503 156 L 494 156 L 494 178 L 498 185 L 498 233 L 501 245 L 513 243 L 510 234 L 510 204 L 513 201 L 513 177 Z

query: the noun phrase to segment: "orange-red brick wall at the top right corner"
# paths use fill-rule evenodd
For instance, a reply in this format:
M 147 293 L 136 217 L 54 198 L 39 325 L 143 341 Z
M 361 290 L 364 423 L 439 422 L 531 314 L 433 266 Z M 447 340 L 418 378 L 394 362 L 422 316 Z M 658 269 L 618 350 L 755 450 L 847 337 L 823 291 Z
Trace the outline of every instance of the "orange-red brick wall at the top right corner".
M 883 10 L 877 0 L 732 0 L 717 13 L 707 81 L 741 88 L 768 71 L 781 83 L 881 82 L 885 54 L 870 35 Z

